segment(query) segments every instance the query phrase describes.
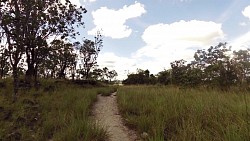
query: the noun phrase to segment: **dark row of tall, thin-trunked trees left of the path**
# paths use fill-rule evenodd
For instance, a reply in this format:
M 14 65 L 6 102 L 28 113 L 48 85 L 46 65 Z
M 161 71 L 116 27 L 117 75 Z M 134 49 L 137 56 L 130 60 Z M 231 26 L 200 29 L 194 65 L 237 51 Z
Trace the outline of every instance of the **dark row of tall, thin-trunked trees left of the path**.
M 38 78 L 111 80 L 117 76 L 108 68 L 94 70 L 103 47 L 100 32 L 94 40 L 70 42 L 80 35 L 77 28 L 84 28 L 86 12 L 69 0 L 0 0 L 0 78 L 13 78 L 13 98 L 21 76 L 31 87 L 37 86 Z

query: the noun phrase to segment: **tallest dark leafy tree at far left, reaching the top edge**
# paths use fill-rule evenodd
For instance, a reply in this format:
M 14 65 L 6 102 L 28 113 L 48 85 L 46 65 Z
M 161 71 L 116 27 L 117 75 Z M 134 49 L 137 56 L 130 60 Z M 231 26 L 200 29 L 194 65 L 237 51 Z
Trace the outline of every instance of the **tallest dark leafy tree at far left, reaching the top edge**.
M 30 81 L 37 74 L 38 56 L 52 36 L 74 37 L 74 25 L 83 25 L 85 8 L 76 8 L 69 0 L 0 0 L 0 31 L 6 39 L 14 77 L 14 95 L 18 91 L 18 64 L 26 54 Z

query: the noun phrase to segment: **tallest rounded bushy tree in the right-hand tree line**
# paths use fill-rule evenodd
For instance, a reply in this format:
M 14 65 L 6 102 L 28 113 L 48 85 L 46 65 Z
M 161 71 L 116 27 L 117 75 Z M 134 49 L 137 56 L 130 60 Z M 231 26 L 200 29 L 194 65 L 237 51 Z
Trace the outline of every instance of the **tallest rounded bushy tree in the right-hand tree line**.
M 237 64 L 227 54 L 230 48 L 227 47 L 227 43 L 219 43 L 217 46 L 211 46 L 207 51 L 198 50 L 194 56 L 196 62 L 194 66 L 199 69 L 195 74 L 199 75 L 194 77 L 200 77 L 205 84 L 219 86 L 223 90 L 236 84 Z

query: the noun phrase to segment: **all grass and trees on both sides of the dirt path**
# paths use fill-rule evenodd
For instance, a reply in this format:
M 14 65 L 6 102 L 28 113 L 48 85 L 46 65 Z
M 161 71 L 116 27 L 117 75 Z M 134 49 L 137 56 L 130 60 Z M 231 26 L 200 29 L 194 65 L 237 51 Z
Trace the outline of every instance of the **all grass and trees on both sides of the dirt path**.
M 143 140 L 250 138 L 250 50 L 219 43 L 108 87 L 117 72 L 98 68 L 101 32 L 76 40 L 86 12 L 68 0 L 0 0 L 0 141 L 107 140 L 90 109 L 117 89 L 125 123 Z

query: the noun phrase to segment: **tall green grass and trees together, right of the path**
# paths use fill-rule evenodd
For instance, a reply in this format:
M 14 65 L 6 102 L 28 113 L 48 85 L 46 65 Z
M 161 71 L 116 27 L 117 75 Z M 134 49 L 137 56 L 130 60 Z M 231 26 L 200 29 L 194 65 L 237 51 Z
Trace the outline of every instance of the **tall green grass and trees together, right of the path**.
M 219 43 L 156 75 L 138 69 L 118 90 L 125 122 L 145 140 L 249 140 L 249 60 Z

